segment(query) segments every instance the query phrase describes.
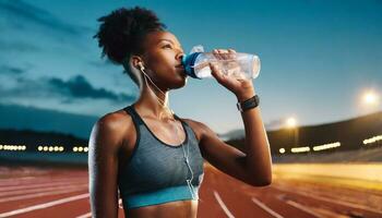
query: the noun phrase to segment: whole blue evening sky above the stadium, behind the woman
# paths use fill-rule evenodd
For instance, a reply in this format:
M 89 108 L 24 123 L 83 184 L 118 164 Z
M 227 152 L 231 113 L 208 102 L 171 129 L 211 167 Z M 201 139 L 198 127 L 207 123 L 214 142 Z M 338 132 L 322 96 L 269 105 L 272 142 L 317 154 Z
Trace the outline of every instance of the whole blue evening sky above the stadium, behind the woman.
M 55 1 L 0 0 L 0 104 L 100 117 L 133 102 L 122 68 L 100 59 L 96 20 L 121 7 L 153 10 L 182 44 L 234 48 L 262 61 L 254 87 L 267 129 L 289 116 L 301 125 L 381 110 L 381 1 Z M 213 78 L 170 92 L 184 118 L 218 133 L 243 128 L 234 94 Z

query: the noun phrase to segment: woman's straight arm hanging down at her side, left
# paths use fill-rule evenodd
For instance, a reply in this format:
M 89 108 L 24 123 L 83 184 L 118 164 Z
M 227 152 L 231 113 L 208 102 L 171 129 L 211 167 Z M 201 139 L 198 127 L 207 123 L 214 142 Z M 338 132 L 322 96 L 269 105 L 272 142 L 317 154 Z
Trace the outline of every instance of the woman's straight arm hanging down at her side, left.
M 118 149 L 121 137 L 111 116 L 99 119 L 88 142 L 88 178 L 93 218 L 118 217 Z

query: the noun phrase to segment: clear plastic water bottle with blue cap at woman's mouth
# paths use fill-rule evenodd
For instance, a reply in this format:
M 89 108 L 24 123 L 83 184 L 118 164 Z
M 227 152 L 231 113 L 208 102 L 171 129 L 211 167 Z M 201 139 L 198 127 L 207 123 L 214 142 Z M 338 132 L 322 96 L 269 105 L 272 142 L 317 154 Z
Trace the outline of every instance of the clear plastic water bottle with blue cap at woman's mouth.
M 232 58 L 220 59 L 212 52 L 203 52 L 202 46 L 195 46 L 190 55 L 183 56 L 184 72 L 194 78 L 212 77 L 210 62 L 216 63 L 227 76 L 251 80 L 259 76 L 260 59 L 251 53 L 234 53 Z

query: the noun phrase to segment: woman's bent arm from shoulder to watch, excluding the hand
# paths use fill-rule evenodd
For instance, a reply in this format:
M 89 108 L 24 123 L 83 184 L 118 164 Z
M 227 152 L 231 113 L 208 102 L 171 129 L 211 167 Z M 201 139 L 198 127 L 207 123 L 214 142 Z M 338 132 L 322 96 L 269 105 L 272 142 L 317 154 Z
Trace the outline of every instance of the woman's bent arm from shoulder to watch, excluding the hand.
M 272 159 L 260 109 L 244 111 L 244 153 L 223 142 L 207 125 L 186 119 L 199 140 L 203 158 L 220 171 L 253 186 L 272 183 Z

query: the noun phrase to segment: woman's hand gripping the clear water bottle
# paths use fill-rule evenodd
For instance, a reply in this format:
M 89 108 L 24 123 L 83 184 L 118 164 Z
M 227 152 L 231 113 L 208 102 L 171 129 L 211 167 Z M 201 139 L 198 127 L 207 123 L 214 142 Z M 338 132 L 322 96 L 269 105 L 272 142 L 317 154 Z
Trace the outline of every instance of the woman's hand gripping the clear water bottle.
M 214 49 L 213 55 L 219 60 L 232 59 L 236 56 L 236 51 L 232 49 Z M 224 87 L 232 92 L 239 101 L 243 101 L 254 95 L 254 87 L 252 80 L 239 78 L 235 76 L 226 75 L 217 63 L 210 63 L 211 74 L 216 81 Z

